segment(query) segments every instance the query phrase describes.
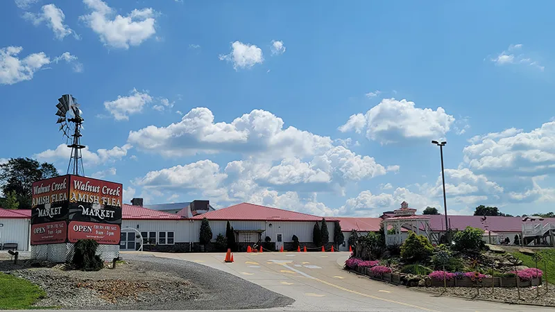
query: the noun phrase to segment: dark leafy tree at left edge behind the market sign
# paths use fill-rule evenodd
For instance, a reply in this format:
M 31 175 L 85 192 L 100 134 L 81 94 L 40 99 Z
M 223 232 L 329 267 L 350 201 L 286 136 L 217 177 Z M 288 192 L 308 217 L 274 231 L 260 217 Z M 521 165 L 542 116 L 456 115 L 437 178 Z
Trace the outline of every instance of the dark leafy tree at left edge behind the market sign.
M 58 171 L 53 164 L 41 164 L 31 158 L 10 158 L 5 164 L 0 164 L 0 189 L 4 194 L 15 192 L 19 209 L 30 209 L 33 182 L 57 176 Z

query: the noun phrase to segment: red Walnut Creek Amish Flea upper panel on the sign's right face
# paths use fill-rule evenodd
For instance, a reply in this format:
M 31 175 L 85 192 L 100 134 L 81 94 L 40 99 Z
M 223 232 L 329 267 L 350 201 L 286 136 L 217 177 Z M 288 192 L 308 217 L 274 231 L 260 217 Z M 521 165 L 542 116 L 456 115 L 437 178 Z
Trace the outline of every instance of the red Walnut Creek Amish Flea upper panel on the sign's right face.
M 70 175 L 69 202 L 82 202 L 111 207 L 121 207 L 123 187 L 121 183 L 96 180 L 90 177 Z

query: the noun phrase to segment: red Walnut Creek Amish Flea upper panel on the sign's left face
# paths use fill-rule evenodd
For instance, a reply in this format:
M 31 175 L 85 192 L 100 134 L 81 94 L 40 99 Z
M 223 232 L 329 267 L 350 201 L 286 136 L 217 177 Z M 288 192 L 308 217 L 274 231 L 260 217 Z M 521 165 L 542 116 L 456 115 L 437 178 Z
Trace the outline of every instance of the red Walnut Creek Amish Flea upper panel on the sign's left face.
M 40 205 L 53 205 L 57 202 L 67 202 L 69 189 L 69 175 L 51 177 L 33 183 L 31 187 L 31 207 Z

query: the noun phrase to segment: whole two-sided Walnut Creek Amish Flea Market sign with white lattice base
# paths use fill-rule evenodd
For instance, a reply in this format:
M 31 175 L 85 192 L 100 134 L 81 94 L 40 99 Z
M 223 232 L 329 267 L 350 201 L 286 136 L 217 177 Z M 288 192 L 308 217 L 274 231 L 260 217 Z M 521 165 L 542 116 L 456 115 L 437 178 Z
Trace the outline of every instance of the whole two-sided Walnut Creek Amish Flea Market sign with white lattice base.
M 54 262 L 71 260 L 74 243 L 94 239 L 105 260 L 119 257 L 120 183 L 62 175 L 33 183 L 31 256 Z

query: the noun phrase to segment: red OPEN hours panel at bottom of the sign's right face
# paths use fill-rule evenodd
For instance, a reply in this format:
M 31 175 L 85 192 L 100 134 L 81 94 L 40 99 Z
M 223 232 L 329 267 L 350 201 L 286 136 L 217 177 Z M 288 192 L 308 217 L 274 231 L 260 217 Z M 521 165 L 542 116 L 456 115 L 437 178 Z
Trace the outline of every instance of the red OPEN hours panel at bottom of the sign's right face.
M 94 239 L 99 244 L 119 245 L 119 225 L 71 221 L 67 231 L 69 243 L 77 243 L 80 239 Z

